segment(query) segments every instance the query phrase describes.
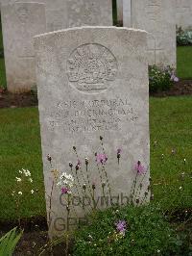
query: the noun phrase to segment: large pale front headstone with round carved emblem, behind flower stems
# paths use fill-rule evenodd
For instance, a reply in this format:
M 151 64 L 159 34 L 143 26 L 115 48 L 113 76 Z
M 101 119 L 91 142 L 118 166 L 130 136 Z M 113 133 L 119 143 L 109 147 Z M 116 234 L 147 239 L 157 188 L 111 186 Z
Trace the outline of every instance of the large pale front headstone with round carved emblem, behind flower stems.
M 75 176 L 78 186 L 70 196 L 83 198 L 85 183 L 85 192 L 91 198 L 94 182 L 94 198 L 100 209 L 108 205 L 101 199 L 102 182 L 106 182 L 106 198 L 112 195 L 115 200 L 116 196 L 117 201 L 120 196 L 119 204 L 127 202 L 123 196 L 130 195 L 136 175 L 133 166 L 138 160 L 148 170 L 137 196 L 143 198 L 149 185 L 146 32 L 116 27 L 67 29 L 37 36 L 35 49 L 47 215 L 50 235 L 54 236 L 66 229 L 68 217 L 69 222 L 77 223 L 90 207 L 77 206 L 76 198 L 68 215 L 66 206 L 60 204 L 60 188 L 51 189 L 54 183 L 48 154 L 53 168 Z M 95 152 L 103 154 L 103 146 L 108 175 L 102 164 L 95 162 Z M 118 148 L 122 149 L 119 165 Z M 87 172 L 84 158 L 89 159 Z M 76 172 L 78 159 L 82 165 Z M 73 163 L 72 170 L 69 162 Z

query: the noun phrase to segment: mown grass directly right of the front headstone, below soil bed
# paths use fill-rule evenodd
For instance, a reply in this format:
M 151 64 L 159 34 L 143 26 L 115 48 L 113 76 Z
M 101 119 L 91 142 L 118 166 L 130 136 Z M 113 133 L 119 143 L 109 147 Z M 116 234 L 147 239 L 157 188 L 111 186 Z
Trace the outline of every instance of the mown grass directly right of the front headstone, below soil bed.
M 160 201 L 162 208 L 191 208 L 192 205 L 191 102 L 190 96 L 150 101 L 151 172 L 156 201 Z M 176 154 L 171 153 L 172 149 Z M 180 179 L 182 172 L 185 172 L 184 181 Z

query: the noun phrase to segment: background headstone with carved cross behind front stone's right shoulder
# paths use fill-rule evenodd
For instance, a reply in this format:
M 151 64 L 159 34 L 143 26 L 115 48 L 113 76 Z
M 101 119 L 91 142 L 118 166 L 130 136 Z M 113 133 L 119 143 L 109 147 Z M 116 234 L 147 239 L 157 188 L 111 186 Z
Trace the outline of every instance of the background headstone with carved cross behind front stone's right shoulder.
M 132 1 L 132 27 L 149 33 L 149 64 L 176 67 L 175 4 L 175 0 Z M 125 24 L 127 19 L 129 15 L 124 16 Z

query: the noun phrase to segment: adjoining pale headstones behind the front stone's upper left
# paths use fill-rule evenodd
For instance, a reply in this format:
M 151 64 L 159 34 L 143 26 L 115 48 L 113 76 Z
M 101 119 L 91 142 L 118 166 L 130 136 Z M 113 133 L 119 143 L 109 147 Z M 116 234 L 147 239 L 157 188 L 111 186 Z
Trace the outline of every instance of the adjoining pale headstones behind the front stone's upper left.
M 36 86 L 33 37 L 68 27 L 112 25 L 110 0 L 1 0 L 7 88 L 12 92 Z

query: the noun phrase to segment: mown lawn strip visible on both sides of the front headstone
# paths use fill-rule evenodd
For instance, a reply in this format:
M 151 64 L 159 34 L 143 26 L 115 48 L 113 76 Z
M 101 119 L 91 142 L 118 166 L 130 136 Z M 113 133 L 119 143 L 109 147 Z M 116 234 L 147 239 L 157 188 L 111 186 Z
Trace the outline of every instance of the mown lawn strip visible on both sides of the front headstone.
M 187 96 L 150 99 L 151 172 L 155 200 L 164 209 L 192 205 L 191 179 L 180 181 L 181 172 L 191 175 L 191 101 L 192 97 Z M 21 216 L 45 216 L 37 109 L 1 109 L 0 120 L 0 219 L 16 218 L 11 194 L 17 171 L 22 167 L 31 170 L 33 189 L 38 192 L 32 195 L 24 188 Z M 172 148 L 177 150 L 176 155 L 171 155 Z

